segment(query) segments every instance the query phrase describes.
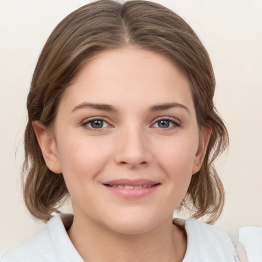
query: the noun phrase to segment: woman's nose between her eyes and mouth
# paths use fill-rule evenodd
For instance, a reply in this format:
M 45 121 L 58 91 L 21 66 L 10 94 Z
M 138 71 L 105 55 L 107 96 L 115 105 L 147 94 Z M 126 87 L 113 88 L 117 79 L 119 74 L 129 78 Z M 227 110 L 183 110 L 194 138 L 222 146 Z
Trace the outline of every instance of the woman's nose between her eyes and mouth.
M 140 128 L 121 132 L 117 139 L 115 161 L 130 169 L 143 168 L 151 163 L 150 143 Z

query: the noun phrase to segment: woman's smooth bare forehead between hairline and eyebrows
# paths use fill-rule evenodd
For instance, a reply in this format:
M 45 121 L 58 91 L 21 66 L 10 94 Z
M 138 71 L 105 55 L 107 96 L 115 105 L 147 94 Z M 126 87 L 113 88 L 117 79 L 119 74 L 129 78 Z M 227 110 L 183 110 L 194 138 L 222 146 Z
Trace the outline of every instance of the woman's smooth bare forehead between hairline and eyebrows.
M 89 59 L 72 80 L 63 100 L 125 105 L 180 102 L 193 105 L 187 77 L 167 57 L 127 47 Z M 92 100 L 92 101 L 91 101 Z

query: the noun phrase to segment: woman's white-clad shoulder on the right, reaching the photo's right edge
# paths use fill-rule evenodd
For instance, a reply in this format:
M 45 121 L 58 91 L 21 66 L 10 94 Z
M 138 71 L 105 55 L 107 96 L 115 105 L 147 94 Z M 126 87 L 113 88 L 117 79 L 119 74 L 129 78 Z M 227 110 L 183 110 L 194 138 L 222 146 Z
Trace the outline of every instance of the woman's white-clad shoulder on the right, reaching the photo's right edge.
M 196 220 L 175 219 L 174 224 L 187 233 L 188 261 L 262 261 L 262 227 L 245 226 L 234 234 L 235 246 L 228 232 Z M 232 232 L 231 232 L 232 233 Z M 234 238 L 234 237 L 233 237 Z

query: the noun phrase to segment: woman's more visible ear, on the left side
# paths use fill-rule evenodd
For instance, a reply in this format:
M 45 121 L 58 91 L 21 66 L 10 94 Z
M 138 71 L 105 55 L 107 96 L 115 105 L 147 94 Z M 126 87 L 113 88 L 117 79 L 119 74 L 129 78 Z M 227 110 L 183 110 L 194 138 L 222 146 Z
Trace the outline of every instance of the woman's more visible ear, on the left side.
M 61 173 L 62 169 L 58 157 L 57 146 L 51 130 L 39 121 L 33 121 L 32 125 L 48 168 L 54 173 Z

